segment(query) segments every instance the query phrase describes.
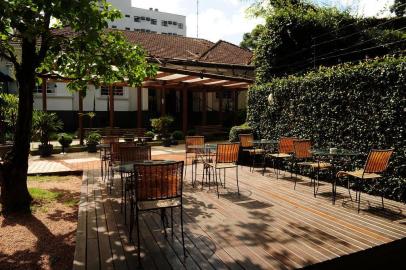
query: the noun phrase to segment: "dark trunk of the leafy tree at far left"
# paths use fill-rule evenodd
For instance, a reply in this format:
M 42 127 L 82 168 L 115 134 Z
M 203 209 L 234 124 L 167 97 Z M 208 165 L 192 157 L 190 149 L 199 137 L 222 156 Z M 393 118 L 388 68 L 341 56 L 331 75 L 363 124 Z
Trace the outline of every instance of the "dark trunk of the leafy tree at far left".
M 33 94 L 35 87 L 36 40 L 23 39 L 22 63 L 16 69 L 19 85 L 17 127 L 11 154 L 0 167 L 2 210 L 5 213 L 30 211 L 32 198 L 27 188 L 30 152 Z

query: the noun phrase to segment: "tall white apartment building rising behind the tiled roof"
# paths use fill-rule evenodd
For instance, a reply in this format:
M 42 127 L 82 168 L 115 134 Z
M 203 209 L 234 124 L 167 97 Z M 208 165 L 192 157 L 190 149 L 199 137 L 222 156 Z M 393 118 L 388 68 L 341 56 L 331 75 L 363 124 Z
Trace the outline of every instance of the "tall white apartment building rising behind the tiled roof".
M 186 36 L 186 16 L 131 6 L 131 0 L 109 0 L 123 18 L 109 23 L 109 28 Z

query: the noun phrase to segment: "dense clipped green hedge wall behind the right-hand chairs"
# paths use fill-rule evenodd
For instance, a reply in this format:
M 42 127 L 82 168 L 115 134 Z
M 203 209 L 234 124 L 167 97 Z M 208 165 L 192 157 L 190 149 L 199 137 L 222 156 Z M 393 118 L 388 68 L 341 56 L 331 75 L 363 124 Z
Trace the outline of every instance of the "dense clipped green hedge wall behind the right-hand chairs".
M 273 105 L 268 102 L 273 94 Z M 343 64 L 251 87 L 247 121 L 262 138 L 309 138 L 363 153 L 395 148 L 389 177 L 365 191 L 406 202 L 406 57 Z

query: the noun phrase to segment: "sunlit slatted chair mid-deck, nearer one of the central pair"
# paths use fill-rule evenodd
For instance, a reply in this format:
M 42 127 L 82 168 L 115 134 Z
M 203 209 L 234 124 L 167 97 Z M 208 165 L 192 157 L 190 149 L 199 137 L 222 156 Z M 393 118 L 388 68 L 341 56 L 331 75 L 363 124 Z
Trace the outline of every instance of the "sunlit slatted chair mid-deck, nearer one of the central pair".
M 238 184 L 238 152 L 240 150 L 239 143 L 223 143 L 217 144 L 216 157 L 214 160 L 208 159 L 204 162 L 204 167 L 211 169 L 214 175 L 214 180 L 217 189 L 217 197 L 220 197 L 218 182 L 221 181 L 220 170 L 223 170 L 224 187 L 226 186 L 226 169 L 235 168 L 237 180 L 237 193 L 240 195 L 240 187 Z M 210 181 L 210 177 L 209 177 Z M 202 180 L 203 187 L 203 180 Z

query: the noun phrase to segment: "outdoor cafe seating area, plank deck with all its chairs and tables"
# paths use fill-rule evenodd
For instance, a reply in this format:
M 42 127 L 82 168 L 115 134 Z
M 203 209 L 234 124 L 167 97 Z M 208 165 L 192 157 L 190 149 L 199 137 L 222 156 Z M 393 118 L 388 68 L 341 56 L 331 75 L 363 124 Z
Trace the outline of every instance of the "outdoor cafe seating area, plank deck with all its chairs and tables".
M 384 176 L 393 150 L 372 150 L 355 170 L 360 153 L 348 149 L 240 139 L 189 136 L 173 160 L 104 137 L 100 167 L 85 173 L 79 227 L 87 244 L 75 258 L 89 265 L 93 254 L 114 269 L 290 269 L 406 237 L 404 205 L 387 200 L 383 209 L 368 194 L 361 202 L 359 185 L 350 185 Z

